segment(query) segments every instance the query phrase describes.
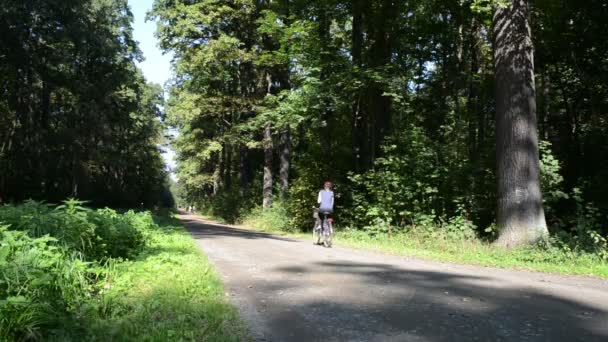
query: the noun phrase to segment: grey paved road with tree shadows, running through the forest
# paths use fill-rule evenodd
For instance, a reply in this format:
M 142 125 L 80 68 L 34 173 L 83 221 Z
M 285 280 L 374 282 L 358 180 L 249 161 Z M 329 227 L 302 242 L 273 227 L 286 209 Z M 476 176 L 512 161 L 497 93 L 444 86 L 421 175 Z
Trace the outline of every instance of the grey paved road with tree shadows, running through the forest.
M 608 282 L 421 261 L 181 216 L 256 341 L 608 341 Z

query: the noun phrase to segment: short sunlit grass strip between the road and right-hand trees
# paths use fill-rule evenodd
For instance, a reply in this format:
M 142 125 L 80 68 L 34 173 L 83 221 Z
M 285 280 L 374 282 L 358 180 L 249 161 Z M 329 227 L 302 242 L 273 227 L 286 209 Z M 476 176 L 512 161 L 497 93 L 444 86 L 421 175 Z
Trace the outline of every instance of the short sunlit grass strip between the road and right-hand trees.
M 286 227 L 277 225 L 277 222 L 287 222 L 285 218 L 277 218 L 277 215 L 274 214 L 267 214 L 267 216 L 270 216 L 270 219 L 260 215 L 246 217 L 242 227 L 293 238 L 310 237 L 310 234 L 290 232 L 285 229 Z M 280 228 L 275 228 L 277 226 Z M 593 254 L 575 253 L 556 248 L 534 247 L 505 250 L 479 240 L 450 241 L 441 236 L 428 237 L 411 233 L 371 236 L 364 231 L 348 229 L 338 231 L 334 242 L 338 246 L 412 256 L 431 261 L 608 279 L 608 261 L 601 260 Z

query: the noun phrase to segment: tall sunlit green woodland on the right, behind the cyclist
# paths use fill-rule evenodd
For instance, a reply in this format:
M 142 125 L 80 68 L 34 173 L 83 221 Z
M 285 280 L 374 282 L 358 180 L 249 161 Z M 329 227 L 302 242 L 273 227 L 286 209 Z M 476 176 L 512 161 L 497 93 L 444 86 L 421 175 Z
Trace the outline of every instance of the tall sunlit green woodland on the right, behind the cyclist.
M 607 16 L 601 0 L 157 0 L 181 196 L 304 228 L 329 179 L 338 222 L 370 233 L 458 218 L 503 245 L 599 239 Z

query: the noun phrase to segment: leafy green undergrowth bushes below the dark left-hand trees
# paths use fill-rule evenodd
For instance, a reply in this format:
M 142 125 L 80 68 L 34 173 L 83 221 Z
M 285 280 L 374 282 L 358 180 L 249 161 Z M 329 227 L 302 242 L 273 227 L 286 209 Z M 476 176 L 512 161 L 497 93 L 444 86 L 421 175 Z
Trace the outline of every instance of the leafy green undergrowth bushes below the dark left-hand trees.
M 0 340 L 39 340 L 78 321 L 100 293 L 109 265 L 142 251 L 157 228 L 150 213 L 0 206 Z M 93 301 L 94 302 L 94 301 Z

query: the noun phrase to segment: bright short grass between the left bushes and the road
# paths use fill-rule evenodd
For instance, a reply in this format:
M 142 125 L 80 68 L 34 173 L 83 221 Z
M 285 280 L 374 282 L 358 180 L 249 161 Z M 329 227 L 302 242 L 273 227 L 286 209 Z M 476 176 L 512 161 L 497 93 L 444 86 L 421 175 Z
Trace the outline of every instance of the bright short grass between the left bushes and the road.
M 89 340 L 242 341 L 244 325 L 194 240 L 173 220 L 134 261 L 117 263 L 104 286 L 104 318 Z

